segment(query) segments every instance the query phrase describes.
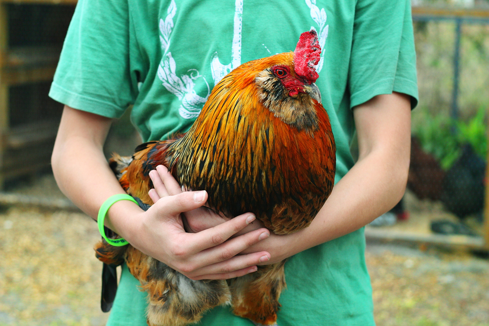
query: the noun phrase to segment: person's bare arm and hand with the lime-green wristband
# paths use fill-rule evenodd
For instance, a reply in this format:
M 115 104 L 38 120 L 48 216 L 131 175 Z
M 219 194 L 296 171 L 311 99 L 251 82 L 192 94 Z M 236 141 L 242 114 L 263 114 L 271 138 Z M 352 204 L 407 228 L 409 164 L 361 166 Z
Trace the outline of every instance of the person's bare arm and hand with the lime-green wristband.
M 66 106 L 51 158 L 62 192 L 94 219 L 107 198 L 124 193 L 103 153 L 110 126 L 109 118 Z M 185 192 L 158 200 L 147 212 L 121 200 L 105 221 L 141 252 L 193 279 L 227 279 L 256 271 L 256 264 L 269 258 L 267 252 L 236 254 L 266 238 L 267 229 L 225 241 L 246 227 L 252 214 L 199 233 L 185 232 L 180 213 L 202 206 L 206 199 L 206 192 Z

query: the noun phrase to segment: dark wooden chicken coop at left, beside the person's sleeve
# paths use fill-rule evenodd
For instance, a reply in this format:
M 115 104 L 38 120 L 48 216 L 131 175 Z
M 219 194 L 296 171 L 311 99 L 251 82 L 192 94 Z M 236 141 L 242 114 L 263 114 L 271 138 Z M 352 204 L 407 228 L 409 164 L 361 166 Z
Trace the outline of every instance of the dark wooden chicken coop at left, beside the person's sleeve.
M 63 107 L 48 97 L 76 0 L 0 0 L 0 187 L 49 167 Z

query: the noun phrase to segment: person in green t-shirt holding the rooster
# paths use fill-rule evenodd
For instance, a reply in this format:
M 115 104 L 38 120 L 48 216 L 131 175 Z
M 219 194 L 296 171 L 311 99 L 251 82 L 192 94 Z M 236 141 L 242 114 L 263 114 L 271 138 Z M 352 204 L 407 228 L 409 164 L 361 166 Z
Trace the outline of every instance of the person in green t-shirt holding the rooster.
M 107 198 L 124 193 L 102 152 L 113 118 L 133 105 L 132 121 L 145 141 L 187 131 L 227 73 L 294 49 L 311 25 L 322 48 L 315 84 L 331 120 L 336 174 L 309 227 L 270 234 L 253 212 L 223 223 L 203 219 L 199 207 L 208 194 L 181 192 L 162 168 L 151 173 L 151 209 L 118 201 L 106 225 L 192 280 L 240 277 L 289 258 L 280 326 L 374 325 L 362 227 L 394 206 L 406 184 L 410 110 L 417 103 L 409 1 L 81 0 L 50 91 L 66 105 L 53 172 L 65 194 L 95 218 Z M 349 151 L 355 131 L 356 163 Z M 182 220 L 188 211 L 194 214 Z M 184 222 L 197 232 L 184 232 Z M 146 325 L 137 286 L 124 267 L 108 325 Z M 199 323 L 251 325 L 221 306 Z

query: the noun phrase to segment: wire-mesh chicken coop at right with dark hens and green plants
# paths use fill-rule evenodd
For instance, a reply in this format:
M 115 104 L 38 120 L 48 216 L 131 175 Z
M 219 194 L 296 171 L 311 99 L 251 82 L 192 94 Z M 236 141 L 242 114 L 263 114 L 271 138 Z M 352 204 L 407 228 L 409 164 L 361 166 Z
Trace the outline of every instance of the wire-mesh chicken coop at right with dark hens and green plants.
M 412 12 L 420 103 L 407 190 L 365 233 L 487 251 L 489 8 Z

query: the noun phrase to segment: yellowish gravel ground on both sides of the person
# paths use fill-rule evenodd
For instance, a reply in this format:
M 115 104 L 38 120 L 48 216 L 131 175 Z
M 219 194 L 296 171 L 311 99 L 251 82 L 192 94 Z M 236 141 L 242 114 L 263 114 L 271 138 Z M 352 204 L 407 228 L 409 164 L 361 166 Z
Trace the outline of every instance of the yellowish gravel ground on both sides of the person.
M 62 196 L 52 177 L 36 181 Z M 39 193 L 36 187 L 20 193 Z M 84 214 L 0 211 L 0 326 L 101 326 L 96 223 Z M 489 262 L 464 251 L 367 243 L 378 326 L 489 326 Z

